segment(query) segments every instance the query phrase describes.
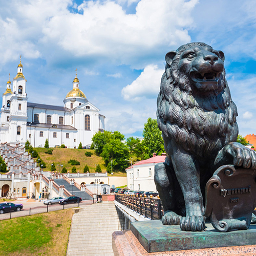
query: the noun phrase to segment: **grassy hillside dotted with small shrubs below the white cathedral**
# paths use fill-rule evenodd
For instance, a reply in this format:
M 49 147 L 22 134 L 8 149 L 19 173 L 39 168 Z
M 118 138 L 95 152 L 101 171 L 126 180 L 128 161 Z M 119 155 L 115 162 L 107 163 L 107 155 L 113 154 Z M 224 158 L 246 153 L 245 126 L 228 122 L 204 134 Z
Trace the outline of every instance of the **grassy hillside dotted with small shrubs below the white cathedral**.
M 104 165 L 104 161 L 101 157 L 96 156 L 94 150 L 78 150 L 77 148 L 52 148 L 53 152 L 52 155 L 48 155 L 45 152 L 47 151 L 47 148 L 44 147 L 37 147 L 35 150 L 38 152 L 40 158 L 44 160 L 47 167 L 44 170 L 51 170 L 51 163 L 54 162 L 56 169 L 58 171 L 57 164 L 63 164 L 68 170 L 68 172 L 71 173 L 72 165 L 68 163 L 70 159 L 75 159 L 80 162 L 80 165 L 75 165 L 77 172 L 80 173 L 83 172 L 84 166 L 86 164 L 89 167 L 90 173 L 95 173 L 96 166 L 95 164 L 99 164 L 102 170 L 102 173 L 106 171 L 106 167 Z M 90 151 L 93 153 L 91 157 L 87 157 L 84 155 L 86 151 Z M 36 160 L 36 159 L 35 159 Z M 60 167 L 61 172 L 61 167 Z

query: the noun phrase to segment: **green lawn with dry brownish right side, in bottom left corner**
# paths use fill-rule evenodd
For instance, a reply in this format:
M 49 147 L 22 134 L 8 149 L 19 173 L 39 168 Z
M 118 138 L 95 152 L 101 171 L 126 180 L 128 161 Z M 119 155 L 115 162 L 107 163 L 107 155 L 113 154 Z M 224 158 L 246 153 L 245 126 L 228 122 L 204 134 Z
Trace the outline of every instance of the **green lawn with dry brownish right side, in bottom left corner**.
M 0 221 L 1 255 L 66 255 L 72 209 Z

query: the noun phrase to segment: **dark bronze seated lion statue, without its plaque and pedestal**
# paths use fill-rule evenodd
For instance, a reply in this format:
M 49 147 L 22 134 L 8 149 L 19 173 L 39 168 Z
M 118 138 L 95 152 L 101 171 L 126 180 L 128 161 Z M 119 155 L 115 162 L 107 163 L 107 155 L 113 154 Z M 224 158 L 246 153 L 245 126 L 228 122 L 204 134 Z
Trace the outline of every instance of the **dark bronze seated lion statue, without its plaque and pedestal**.
M 224 53 L 191 42 L 165 60 L 157 121 L 167 157 L 155 167 L 162 222 L 202 231 L 206 182 L 224 164 L 256 168 L 256 154 L 236 142 L 238 113 L 225 79 Z

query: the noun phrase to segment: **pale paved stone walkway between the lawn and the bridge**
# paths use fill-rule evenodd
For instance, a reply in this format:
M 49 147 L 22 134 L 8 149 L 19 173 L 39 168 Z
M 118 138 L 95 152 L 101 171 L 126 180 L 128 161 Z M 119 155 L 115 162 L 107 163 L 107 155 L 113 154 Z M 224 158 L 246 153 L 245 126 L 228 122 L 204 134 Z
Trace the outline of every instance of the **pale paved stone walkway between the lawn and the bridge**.
M 83 206 L 72 218 L 67 255 L 114 256 L 112 233 L 123 226 L 114 202 Z

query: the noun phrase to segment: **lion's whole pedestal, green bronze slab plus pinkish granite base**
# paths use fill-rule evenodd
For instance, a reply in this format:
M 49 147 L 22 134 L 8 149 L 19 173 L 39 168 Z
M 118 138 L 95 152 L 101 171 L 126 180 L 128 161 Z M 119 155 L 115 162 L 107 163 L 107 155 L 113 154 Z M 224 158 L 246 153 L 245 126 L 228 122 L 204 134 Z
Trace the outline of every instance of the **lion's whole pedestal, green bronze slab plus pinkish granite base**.
M 131 229 L 113 233 L 115 256 L 253 256 L 256 255 L 256 225 L 248 230 L 186 232 L 161 221 L 133 222 Z

